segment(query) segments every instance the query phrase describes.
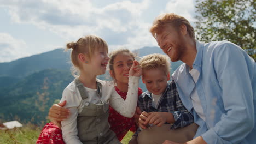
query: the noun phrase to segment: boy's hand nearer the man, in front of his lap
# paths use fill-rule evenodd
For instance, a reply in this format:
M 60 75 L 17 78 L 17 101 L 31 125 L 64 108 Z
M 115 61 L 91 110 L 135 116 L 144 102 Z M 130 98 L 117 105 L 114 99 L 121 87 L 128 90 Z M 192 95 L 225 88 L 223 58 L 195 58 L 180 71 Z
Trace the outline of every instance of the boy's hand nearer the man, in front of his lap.
M 161 127 L 166 122 L 172 123 L 172 120 L 174 119 L 172 113 L 169 112 L 149 112 L 149 116 L 144 122 L 144 124 L 153 124 L 158 125 L 158 127 Z

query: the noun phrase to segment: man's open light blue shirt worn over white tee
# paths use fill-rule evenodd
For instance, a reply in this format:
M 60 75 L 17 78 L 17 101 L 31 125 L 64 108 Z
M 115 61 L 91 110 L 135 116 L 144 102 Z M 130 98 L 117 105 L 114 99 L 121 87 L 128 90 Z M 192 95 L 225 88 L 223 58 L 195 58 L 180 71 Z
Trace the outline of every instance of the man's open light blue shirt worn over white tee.
M 200 73 L 195 83 L 182 64 L 172 75 L 179 97 L 194 115 L 207 143 L 256 143 L 256 63 L 229 41 L 196 42 L 193 68 Z M 196 87 L 206 121 L 193 109 L 191 92 Z

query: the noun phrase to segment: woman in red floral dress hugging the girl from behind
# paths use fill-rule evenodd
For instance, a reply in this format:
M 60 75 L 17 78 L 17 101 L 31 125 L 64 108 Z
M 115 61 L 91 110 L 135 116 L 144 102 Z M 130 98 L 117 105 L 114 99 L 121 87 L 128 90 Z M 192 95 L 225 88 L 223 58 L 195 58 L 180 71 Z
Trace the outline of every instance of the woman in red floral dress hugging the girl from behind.
M 135 55 L 128 49 L 118 49 L 110 53 L 109 70 L 110 75 L 115 82 L 115 91 L 125 100 L 128 91 L 128 77 L 127 71 L 130 70 L 132 62 L 135 60 Z M 138 95 L 142 93 L 142 90 L 138 88 Z M 59 105 L 62 105 L 60 103 Z M 61 121 L 66 118 L 66 109 L 59 105 L 53 105 L 49 111 L 49 118 L 54 121 Z M 65 103 L 63 103 L 65 105 Z M 62 106 L 63 106 L 62 105 Z M 60 115 L 58 115 L 60 114 Z M 136 130 L 134 118 L 127 118 L 121 116 L 112 107 L 109 107 L 108 122 L 110 129 L 115 132 L 119 141 L 123 139 L 129 129 L 131 131 Z M 60 125 L 59 123 L 55 123 Z M 64 144 L 61 137 L 61 129 L 59 129 L 53 123 L 47 123 L 42 129 L 42 132 L 38 138 L 37 143 L 61 143 Z M 59 126 L 60 127 L 60 126 Z

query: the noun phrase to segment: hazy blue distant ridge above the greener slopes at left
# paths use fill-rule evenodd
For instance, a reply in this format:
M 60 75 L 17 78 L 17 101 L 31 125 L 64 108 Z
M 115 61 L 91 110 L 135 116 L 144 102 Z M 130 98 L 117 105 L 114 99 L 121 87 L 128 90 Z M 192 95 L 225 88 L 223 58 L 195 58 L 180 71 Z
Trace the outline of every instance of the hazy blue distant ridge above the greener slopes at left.
M 55 49 L 16 61 L 0 63 L 0 76 L 22 78 L 43 69 L 67 70 L 70 67 L 69 52 L 64 52 L 64 49 Z

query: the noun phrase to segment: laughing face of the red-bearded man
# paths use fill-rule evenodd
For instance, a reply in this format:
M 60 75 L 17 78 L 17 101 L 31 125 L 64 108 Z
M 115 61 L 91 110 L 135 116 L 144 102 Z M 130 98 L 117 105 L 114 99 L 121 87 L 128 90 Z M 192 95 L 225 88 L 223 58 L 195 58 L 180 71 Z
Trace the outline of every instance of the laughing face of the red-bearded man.
M 156 41 L 172 62 L 181 60 L 184 53 L 184 41 L 179 31 L 173 26 L 166 25 L 161 33 L 156 34 Z

